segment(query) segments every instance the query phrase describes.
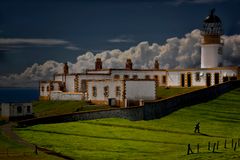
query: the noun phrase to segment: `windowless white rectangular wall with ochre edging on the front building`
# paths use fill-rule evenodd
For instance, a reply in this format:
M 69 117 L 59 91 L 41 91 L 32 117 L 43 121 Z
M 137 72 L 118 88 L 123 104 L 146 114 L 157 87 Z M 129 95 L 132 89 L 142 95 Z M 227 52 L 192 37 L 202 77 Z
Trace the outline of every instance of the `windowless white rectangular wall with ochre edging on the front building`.
M 128 100 L 155 100 L 156 82 L 155 81 L 126 81 L 126 99 Z

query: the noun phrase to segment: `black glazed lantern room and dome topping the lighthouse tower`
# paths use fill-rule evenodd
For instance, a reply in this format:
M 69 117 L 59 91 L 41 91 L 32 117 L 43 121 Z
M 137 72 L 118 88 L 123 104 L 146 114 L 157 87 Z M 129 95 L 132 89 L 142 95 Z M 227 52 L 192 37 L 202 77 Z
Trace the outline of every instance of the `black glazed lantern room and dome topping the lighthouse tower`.
M 201 34 L 203 36 L 221 36 L 223 35 L 222 21 L 214 15 L 215 9 L 212 9 L 209 16 L 203 21 L 203 29 Z

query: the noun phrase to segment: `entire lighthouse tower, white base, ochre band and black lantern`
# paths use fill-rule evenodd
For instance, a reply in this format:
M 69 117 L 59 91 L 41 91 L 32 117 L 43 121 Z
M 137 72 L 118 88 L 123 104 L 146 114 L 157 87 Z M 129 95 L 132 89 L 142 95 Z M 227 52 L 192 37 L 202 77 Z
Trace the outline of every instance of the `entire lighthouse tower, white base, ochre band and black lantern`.
M 222 22 L 220 18 L 214 15 L 215 9 L 212 9 L 209 16 L 203 21 L 201 35 L 201 68 L 214 68 L 222 66 L 223 54 L 223 35 Z

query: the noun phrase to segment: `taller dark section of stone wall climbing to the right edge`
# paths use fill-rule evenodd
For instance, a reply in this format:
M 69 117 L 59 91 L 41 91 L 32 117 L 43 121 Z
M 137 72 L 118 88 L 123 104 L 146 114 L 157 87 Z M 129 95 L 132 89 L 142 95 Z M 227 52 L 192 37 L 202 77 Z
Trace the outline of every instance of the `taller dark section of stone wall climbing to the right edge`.
M 164 100 L 145 102 L 143 108 L 144 120 L 161 118 L 180 108 L 212 100 L 239 86 L 239 80 L 230 81 Z

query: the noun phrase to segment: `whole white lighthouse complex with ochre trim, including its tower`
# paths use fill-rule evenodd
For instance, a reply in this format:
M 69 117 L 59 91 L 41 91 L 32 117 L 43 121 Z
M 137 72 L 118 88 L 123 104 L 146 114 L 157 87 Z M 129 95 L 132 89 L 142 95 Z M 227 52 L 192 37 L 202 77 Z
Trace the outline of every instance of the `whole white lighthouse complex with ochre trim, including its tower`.
M 240 67 L 223 66 L 222 22 L 214 9 L 203 22 L 201 68 L 161 69 L 155 61 L 152 68 L 134 68 L 126 59 L 125 68 L 103 68 L 101 58 L 95 69 L 69 73 L 67 63 L 53 80 L 41 81 L 42 100 L 88 100 L 95 104 L 127 106 L 130 101 L 155 100 L 157 87 L 210 87 L 240 79 Z M 127 102 L 127 103 L 125 103 Z

